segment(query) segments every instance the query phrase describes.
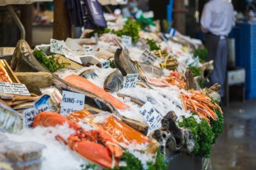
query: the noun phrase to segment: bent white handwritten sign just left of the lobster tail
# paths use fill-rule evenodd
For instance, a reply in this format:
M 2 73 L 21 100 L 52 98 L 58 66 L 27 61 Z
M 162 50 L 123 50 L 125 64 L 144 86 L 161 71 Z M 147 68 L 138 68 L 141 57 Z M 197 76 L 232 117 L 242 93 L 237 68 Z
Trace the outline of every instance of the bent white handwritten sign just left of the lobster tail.
M 36 115 L 41 112 L 47 111 L 48 104 L 43 104 L 39 107 L 31 107 L 23 111 L 23 129 L 33 127 L 33 121 Z

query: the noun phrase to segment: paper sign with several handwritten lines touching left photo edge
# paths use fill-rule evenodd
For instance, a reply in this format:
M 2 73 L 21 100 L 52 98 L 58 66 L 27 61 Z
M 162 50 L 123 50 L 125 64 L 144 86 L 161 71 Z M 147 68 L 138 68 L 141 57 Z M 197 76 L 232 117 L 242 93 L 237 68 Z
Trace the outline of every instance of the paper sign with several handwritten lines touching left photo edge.
M 0 92 L 15 95 L 30 95 L 25 84 L 0 82 Z

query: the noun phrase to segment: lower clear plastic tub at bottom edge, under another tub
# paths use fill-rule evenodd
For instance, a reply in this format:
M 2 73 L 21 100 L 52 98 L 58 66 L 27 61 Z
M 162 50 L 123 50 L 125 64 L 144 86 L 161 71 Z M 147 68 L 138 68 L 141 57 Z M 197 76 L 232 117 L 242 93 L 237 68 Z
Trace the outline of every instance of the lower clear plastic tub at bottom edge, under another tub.
M 34 161 L 16 162 L 12 164 L 12 167 L 14 170 L 40 170 L 44 160 L 44 158 L 41 158 Z

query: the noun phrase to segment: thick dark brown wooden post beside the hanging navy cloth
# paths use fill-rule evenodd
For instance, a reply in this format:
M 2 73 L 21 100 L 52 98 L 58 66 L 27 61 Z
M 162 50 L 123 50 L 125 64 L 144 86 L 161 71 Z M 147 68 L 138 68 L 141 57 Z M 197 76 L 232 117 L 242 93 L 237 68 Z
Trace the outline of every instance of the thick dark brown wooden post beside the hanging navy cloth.
M 68 9 L 63 0 L 54 0 L 53 38 L 66 40 L 71 37 L 71 22 Z

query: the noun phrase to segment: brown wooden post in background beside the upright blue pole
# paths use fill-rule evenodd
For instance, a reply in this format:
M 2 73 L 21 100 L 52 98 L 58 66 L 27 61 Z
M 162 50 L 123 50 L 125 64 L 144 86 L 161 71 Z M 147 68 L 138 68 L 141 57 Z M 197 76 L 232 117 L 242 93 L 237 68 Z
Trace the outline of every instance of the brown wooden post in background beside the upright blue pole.
M 174 0 L 173 9 L 173 27 L 181 34 L 186 33 L 186 17 L 185 17 L 184 0 Z

